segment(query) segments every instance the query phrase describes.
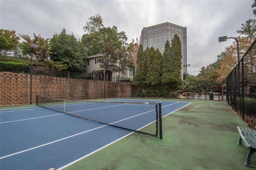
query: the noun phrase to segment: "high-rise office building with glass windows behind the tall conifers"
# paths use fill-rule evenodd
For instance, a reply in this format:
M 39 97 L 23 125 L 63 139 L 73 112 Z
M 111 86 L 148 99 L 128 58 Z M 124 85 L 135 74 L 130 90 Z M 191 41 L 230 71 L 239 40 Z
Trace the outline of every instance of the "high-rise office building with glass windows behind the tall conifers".
M 187 28 L 165 22 L 154 26 L 143 27 L 140 35 L 140 44 L 143 45 L 143 50 L 147 47 L 154 47 L 158 49 L 162 54 L 164 53 L 164 46 L 168 40 L 170 45 L 174 35 L 177 34 L 181 40 L 182 47 L 182 69 L 181 77 L 188 73 L 187 70 Z M 184 67 L 185 65 L 185 67 Z

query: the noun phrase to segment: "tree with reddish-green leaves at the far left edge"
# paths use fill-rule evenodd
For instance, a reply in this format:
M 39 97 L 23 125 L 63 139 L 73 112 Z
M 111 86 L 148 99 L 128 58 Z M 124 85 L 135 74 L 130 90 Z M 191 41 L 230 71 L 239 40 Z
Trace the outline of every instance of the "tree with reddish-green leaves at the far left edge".
M 20 38 L 16 36 L 16 31 L 4 30 L 0 31 L 0 54 L 6 51 L 14 50 L 19 44 Z

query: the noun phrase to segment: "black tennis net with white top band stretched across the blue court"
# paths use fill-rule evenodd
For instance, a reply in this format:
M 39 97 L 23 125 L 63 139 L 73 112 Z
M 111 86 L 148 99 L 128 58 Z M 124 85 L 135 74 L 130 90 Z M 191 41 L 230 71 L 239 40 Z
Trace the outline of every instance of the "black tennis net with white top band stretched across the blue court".
M 66 100 L 38 95 L 36 105 L 162 139 L 161 103 Z

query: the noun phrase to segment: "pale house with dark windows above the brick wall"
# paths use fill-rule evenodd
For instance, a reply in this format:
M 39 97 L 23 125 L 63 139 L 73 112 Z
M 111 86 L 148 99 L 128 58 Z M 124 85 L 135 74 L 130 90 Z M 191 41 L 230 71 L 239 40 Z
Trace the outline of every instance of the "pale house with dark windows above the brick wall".
M 93 76 L 94 80 L 104 80 L 104 68 L 100 68 L 101 57 L 103 53 L 91 55 L 87 57 L 87 69 L 86 72 Z M 126 67 L 124 73 L 112 72 L 105 70 L 106 81 L 119 82 L 122 80 L 132 80 L 134 69 Z M 108 76 L 108 77 L 107 77 Z

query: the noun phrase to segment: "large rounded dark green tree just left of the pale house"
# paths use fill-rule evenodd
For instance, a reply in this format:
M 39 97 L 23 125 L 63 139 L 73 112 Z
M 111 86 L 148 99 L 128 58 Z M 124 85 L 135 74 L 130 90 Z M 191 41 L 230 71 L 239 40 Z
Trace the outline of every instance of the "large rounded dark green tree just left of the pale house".
M 50 40 L 51 59 L 68 65 L 69 71 L 86 71 L 86 50 L 80 40 L 74 34 L 67 34 L 62 29 L 60 34 L 54 34 Z

